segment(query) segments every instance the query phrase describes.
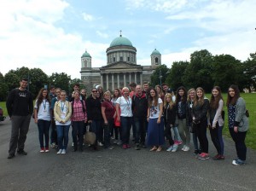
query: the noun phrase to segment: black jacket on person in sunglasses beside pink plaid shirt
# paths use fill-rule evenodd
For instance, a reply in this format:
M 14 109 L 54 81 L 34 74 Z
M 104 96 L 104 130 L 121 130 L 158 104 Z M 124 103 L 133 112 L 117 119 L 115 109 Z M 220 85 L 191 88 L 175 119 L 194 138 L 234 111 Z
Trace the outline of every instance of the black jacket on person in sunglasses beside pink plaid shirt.
M 99 98 L 88 97 L 86 99 L 86 109 L 88 120 L 102 120 L 102 103 Z

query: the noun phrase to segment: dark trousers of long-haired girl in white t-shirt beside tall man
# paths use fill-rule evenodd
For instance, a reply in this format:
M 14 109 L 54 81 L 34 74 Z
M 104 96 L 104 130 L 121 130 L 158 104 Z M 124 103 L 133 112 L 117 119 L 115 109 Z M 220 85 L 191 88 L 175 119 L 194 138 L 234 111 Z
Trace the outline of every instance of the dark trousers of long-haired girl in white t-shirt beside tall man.
M 49 148 L 49 126 L 50 121 L 38 119 L 38 133 L 40 148 Z M 45 144 L 44 144 L 45 143 Z

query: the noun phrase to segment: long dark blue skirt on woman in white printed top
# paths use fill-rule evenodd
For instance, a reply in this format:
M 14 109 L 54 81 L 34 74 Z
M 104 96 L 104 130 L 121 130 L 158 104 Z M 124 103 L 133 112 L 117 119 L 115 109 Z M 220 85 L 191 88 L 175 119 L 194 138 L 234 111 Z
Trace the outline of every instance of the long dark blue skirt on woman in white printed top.
M 160 146 L 165 144 L 163 119 L 161 119 L 160 124 L 157 124 L 157 118 L 149 119 L 147 144 L 148 146 Z

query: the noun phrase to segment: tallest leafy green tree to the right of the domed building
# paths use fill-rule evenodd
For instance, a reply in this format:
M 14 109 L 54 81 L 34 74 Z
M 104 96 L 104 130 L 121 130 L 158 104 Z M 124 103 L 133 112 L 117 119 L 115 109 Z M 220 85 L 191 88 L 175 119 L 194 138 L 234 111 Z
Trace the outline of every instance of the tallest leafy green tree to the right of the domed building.
M 213 56 L 207 49 L 195 51 L 190 55 L 190 64 L 186 67 L 183 83 L 187 87 L 202 87 L 206 92 L 212 90 Z

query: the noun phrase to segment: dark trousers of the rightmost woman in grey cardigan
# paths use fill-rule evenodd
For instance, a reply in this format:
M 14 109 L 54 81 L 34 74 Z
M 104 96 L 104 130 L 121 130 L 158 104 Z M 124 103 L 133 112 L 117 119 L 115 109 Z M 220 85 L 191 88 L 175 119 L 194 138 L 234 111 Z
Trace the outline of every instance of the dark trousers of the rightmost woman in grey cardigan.
M 247 136 L 247 131 L 237 133 L 233 128 L 229 128 L 230 136 L 232 136 L 233 141 L 236 145 L 236 154 L 237 158 L 245 161 L 247 159 L 247 146 L 245 144 L 245 138 Z

